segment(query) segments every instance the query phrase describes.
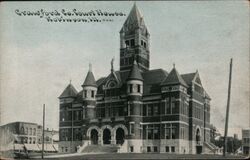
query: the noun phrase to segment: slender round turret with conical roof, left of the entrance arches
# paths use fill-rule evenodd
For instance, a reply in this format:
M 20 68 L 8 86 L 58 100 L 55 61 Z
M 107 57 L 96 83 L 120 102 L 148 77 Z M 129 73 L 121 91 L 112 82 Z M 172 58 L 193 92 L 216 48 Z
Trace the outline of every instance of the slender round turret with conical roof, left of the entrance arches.
M 96 92 L 97 85 L 95 77 L 92 73 L 91 64 L 89 65 L 89 71 L 82 85 L 83 88 L 83 106 L 86 109 L 87 118 L 95 118 L 95 106 L 96 106 Z

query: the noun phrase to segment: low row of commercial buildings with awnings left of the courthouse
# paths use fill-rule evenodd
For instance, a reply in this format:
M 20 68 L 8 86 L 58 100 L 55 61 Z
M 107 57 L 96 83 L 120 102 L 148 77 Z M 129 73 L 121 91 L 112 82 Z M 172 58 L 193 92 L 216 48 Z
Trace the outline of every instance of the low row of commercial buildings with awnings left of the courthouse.
M 4 150 L 41 152 L 42 151 L 42 126 L 31 122 L 13 122 L 0 126 L 0 143 Z M 45 152 L 57 152 L 58 144 L 53 144 L 53 137 L 58 136 L 58 131 L 45 130 Z

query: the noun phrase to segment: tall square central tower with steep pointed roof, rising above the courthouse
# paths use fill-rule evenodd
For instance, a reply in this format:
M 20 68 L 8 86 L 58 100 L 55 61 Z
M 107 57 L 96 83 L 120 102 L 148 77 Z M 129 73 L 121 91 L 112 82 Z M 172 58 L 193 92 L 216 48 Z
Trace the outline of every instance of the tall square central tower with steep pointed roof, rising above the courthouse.
M 120 31 L 120 70 L 130 71 L 134 60 L 139 69 L 149 70 L 149 32 L 136 4 Z

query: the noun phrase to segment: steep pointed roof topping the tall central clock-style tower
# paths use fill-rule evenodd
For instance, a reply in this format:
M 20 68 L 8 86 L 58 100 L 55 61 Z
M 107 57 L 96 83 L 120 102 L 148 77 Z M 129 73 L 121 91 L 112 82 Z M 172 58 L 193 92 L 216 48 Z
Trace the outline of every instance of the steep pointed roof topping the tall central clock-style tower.
M 136 4 L 134 4 L 120 32 L 125 31 L 125 28 L 127 28 L 127 30 L 134 30 L 138 27 L 144 27 L 147 30 L 143 17 Z

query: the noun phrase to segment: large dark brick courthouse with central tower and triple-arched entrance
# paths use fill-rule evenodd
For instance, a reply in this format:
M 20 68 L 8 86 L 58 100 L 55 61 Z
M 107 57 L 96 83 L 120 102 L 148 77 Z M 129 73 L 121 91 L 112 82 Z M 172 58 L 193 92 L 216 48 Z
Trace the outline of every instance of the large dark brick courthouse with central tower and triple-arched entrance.
M 120 69 L 112 60 L 110 73 L 96 80 L 90 66 L 80 91 L 70 83 L 59 96 L 60 152 L 93 145 L 135 153 L 213 151 L 211 99 L 199 72 L 150 70 L 150 57 L 150 34 L 134 5 L 120 30 Z

